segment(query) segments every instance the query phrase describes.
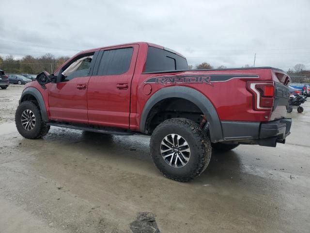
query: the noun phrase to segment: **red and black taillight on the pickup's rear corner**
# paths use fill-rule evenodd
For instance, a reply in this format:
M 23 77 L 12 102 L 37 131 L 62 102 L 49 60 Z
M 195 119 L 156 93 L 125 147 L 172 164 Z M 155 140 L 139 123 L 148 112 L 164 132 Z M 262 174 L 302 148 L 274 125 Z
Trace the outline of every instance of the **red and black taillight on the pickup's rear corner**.
M 253 95 L 254 110 L 272 110 L 275 96 L 275 86 L 273 82 L 247 82 L 247 89 Z

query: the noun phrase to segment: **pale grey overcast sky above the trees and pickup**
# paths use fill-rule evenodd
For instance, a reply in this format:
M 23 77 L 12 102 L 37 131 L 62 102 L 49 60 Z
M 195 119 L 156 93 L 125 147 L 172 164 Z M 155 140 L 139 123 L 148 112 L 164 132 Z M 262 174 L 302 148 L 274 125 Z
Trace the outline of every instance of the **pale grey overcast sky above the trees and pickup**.
M 147 41 L 188 64 L 310 69 L 310 0 L 1 0 L 0 55 Z

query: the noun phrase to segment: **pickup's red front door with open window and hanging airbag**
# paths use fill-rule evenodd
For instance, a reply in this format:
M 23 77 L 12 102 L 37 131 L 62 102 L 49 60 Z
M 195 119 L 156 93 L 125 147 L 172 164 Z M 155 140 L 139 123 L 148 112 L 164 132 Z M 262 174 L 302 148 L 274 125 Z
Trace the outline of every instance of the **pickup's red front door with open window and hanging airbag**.
M 97 52 L 98 53 L 98 52 Z M 62 72 L 60 83 L 49 83 L 48 104 L 50 119 L 88 123 L 87 88 L 91 77 L 94 53 L 78 55 Z

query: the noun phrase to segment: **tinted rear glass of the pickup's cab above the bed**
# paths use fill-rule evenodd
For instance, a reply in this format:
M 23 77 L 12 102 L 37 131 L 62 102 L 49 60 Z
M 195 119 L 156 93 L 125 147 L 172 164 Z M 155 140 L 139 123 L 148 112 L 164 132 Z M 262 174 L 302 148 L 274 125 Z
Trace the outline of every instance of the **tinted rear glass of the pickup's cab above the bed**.
M 188 69 L 187 61 L 175 53 L 149 46 L 144 72 Z

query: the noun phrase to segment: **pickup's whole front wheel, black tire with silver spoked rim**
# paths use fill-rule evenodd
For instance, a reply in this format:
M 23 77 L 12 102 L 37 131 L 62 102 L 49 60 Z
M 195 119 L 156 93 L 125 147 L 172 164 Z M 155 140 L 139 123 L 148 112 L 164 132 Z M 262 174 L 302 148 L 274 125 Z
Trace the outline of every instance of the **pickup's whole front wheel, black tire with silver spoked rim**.
M 18 133 L 28 139 L 45 136 L 49 126 L 43 121 L 40 109 L 32 101 L 24 101 L 16 109 L 15 124 Z

